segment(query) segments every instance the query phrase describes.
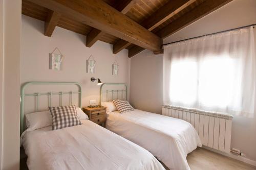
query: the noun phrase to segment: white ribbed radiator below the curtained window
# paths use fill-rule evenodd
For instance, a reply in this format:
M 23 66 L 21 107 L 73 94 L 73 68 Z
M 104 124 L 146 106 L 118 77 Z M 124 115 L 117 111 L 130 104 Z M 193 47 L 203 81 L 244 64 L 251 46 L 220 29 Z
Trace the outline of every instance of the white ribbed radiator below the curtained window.
M 162 106 L 162 115 L 180 118 L 194 126 L 203 145 L 230 152 L 232 116 L 175 106 Z

